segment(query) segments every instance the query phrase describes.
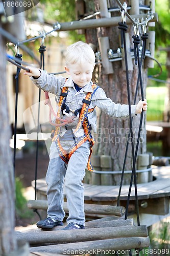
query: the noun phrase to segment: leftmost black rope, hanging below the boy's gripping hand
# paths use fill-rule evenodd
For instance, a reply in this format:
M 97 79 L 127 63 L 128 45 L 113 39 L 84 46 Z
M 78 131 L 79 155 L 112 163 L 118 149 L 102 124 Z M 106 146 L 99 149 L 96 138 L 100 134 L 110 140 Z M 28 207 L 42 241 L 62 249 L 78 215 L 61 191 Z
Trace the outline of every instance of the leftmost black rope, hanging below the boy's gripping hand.
M 22 60 L 21 59 L 22 54 L 16 54 L 15 58 L 18 60 Z M 17 63 L 17 60 L 15 60 L 15 62 Z M 15 121 L 14 121 L 14 154 L 13 154 L 13 167 L 14 167 L 14 176 L 15 176 L 15 162 L 16 162 L 16 130 L 17 130 L 17 111 L 18 111 L 18 87 L 19 87 L 19 76 L 20 73 L 20 68 L 16 68 L 16 87 L 15 87 Z

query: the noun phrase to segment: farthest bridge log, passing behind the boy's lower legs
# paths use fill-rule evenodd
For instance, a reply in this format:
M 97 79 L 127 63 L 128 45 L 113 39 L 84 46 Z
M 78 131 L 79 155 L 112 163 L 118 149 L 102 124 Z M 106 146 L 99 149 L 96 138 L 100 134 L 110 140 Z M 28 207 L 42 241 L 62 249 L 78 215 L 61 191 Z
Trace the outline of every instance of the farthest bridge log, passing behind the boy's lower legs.
M 31 209 L 46 210 L 48 207 L 46 200 L 29 200 L 27 204 Z M 64 202 L 64 210 L 68 212 L 67 203 Z M 112 206 L 112 205 L 99 205 L 99 204 L 85 204 L 84 211 L 88 214 L 101 214 L 101 215 L 115 215 L 123 216 L 125 214 L 125 207 Z

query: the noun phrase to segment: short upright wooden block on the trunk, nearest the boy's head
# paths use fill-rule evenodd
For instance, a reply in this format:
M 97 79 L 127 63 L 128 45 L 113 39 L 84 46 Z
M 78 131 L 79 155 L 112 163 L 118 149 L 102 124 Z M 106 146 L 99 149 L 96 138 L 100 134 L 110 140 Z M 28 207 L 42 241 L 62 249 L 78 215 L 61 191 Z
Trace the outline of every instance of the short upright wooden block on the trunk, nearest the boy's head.
M 110 49 L 109 37 L 98 37 L 99 49 L 102 57 L 103 74 L 113 74 L 113 66 L 108 58 L 108 50 Z

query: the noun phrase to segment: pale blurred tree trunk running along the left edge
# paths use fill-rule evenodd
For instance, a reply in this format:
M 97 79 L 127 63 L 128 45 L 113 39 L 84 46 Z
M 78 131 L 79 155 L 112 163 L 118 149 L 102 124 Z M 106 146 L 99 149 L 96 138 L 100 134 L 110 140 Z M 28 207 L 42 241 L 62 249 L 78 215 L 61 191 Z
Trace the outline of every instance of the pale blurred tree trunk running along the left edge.
M 16 248 L 14 237 L 14 173 L 9 146 L 11 131 L 6 90 L 6 42 L 1 34 L 0 52 L 0 255 L 9 255 Z

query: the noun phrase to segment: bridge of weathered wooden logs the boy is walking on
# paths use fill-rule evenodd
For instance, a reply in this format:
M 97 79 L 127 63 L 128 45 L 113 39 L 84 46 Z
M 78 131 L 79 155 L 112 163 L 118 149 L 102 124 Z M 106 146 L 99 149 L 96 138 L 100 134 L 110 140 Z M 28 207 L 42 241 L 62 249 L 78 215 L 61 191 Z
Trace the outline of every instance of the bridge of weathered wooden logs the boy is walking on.
M 44 200 L 30 200 L 28 207 L 46 209 Z M 67 211 L 66 203 L 64 209 Z M 118 250 L 139 250 L 150 245 L 147 226 L 135 226 L 133 219 L 124 219 L 125 207 L 111 205 L 85 204 L 85 213 L 98 213 L 104 217 L 86 222 L 86 228 L 80 230 L 61 230 L 54 227 L 15 231 L 18 242 L 25 240 L 30 244 L 30 256 L 81 255 Z M 107 217 L 106 217 L 107 215 Z

